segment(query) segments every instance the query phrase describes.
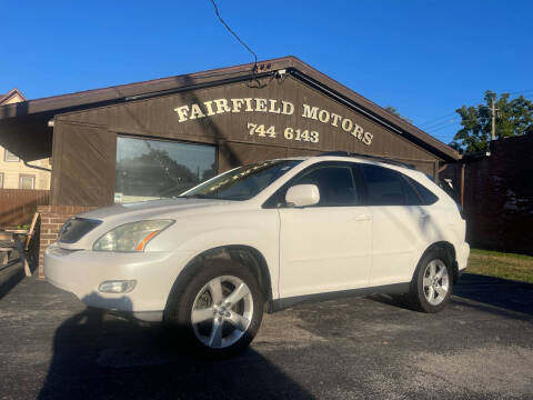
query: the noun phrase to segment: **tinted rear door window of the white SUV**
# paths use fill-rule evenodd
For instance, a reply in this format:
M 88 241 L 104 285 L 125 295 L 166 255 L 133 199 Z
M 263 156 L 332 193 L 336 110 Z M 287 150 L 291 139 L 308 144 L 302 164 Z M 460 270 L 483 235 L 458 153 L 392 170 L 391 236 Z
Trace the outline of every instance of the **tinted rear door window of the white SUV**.
M 420 197 L 398 171 L 361 164 L 366 182 L 366 202 L 370 206 L 419 206 Z

